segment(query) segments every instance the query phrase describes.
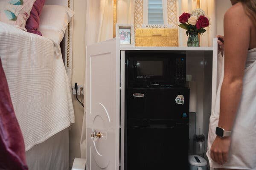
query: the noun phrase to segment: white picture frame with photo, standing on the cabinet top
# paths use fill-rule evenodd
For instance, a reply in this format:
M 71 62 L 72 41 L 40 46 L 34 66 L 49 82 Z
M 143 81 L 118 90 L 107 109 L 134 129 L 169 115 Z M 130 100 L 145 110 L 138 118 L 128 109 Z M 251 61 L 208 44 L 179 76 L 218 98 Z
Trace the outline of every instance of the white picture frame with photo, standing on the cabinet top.
M 134 26 L 131 24 L 116 24 L 116 37 L 120 38 L 121 46 L 135 46 Z

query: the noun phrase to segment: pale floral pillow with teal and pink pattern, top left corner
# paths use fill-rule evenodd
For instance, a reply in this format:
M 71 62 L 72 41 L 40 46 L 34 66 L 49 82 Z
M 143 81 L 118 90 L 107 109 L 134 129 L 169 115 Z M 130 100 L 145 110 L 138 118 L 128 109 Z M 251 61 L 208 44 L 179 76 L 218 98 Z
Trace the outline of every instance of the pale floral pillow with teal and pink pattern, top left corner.
M 26 31 L 26 20 L 35 0 L 0 0 L 0 21 Z

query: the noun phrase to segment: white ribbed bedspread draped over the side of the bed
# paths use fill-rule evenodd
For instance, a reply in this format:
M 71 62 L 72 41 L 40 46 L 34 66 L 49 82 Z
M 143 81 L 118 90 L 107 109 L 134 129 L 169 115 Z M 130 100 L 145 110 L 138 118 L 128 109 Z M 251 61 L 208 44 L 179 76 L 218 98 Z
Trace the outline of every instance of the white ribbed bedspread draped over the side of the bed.
M 61 54 L 53 42 L 0 22 L 0 57 L 26 150 L 75 122 Z

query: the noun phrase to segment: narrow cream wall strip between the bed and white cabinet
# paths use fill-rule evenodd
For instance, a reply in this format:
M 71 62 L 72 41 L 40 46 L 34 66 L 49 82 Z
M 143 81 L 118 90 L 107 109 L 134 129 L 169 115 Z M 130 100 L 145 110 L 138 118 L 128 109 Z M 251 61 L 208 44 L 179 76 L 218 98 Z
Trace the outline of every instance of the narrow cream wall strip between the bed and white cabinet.
M 85 73 L 85 18 L 87 0 L 74 0 L 74 26 L 73 26 L 73 77 L 72 87 L 75 82 L 84 85 Z M 84 102 L 84 101 L 83 101 Z M 69 131 L 70 144 L 70 166 L 75 157 L 80 158 L 80 137 L 84 109 L 73 96 L 73 106 L 75 110 L 76 123 L 72 124 Z

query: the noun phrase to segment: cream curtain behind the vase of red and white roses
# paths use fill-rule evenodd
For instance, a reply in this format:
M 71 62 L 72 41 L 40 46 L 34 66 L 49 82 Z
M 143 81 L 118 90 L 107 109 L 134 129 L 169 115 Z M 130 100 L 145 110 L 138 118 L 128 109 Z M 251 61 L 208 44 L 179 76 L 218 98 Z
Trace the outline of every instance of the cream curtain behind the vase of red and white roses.
M 177 17 L 183 12 L 190 13 L 197 6 L 197 0 L 177 0 Z M 215 0 L 200 0 L 200 8 L 210 17 L 211 25 L 206 28 L 207 32 L 200 38 L 200 46 L 212 46 L 212 38 L 216 36 Z M 177 20 L 179 20 L 177 18 Z M 179 28 L 179 45 L 187 46 L 186 31 Z

